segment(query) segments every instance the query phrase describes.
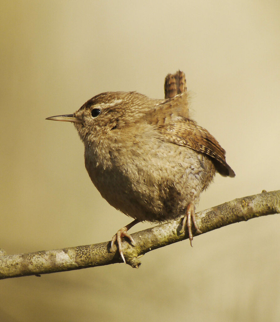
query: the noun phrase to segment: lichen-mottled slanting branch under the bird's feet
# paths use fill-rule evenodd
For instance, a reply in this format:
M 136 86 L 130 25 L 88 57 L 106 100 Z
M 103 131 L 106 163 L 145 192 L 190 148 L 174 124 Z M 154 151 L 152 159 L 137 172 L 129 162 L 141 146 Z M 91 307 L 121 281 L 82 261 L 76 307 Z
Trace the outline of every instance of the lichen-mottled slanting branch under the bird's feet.
M 235 199 L 196 213 L 196 217 L 199 229 L 206 233 L 232 223 L 274 213 L 280 213 L 280 190 L 264 190 L 261 194 Z M 181 228 L 182 218 L 132 234 L 136 246 L 123 243 L 127 264 L 138 268 L 141 265 L 139 257 L 145 253 L 188 239 L 188 232 L 180 233 Z M 193 234 L 197 235 L 195 231 Z M 39 276 L 121 262 L 119 253 L 110 250 L 110 242 L 19 255 L 6 255 L 0 249 L 0 279 Z

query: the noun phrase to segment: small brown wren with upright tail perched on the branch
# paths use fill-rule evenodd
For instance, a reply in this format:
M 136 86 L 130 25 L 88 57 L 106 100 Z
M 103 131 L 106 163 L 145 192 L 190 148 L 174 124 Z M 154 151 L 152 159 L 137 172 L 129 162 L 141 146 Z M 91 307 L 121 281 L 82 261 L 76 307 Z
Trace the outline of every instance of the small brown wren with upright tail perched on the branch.
M 101 196 L 134 218 L 118 230 L 117 241 L 125 262 L 122 237 L 136 223 L 161 223 L 183 217 L 182 231 L 192 223 L 200 232 L 195 205 L 216 172 L 234 177 L 225 150 L 189 117 L 184 73 L 165 79 L 166 99 L 150 99 L 132 92 L 94 96 L 74 114 L 49 120 L 73 122 L 84 143 L 85 167 Z

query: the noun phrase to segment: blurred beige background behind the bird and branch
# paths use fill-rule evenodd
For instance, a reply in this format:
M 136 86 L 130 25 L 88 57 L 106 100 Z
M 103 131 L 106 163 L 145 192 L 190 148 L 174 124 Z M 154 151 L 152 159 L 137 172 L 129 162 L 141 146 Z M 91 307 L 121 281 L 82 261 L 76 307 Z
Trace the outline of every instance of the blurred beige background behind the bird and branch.
M 2 1 L 1 224 L 9 254 L 109 240 L 129 218 L 92 185 L 68 123 L 107 90 L 163 97 L 179 68 L 192 114 L 227 151 L 198 210 L 280 188 L 280 5 L 271 1 Z M 149 227 L 138 224 L 133 230 Z M 276 321 L 280 217 L 124 264 L 0 281 L 1 321 Z

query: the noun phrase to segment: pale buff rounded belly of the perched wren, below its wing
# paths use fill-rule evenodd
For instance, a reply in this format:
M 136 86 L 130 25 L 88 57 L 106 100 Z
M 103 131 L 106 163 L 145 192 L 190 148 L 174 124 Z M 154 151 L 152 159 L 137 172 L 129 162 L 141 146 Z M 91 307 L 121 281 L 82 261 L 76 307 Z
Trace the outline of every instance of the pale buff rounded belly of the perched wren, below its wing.
M 156 141 L 145 155 L 138 149 L 122 152 L 99 164 L 85 155 L 85 165 L 102 197 L 139 221 L 185 215 L 188 203 L 198 202 L 215 173 L 207 156 L 171 143 Z

